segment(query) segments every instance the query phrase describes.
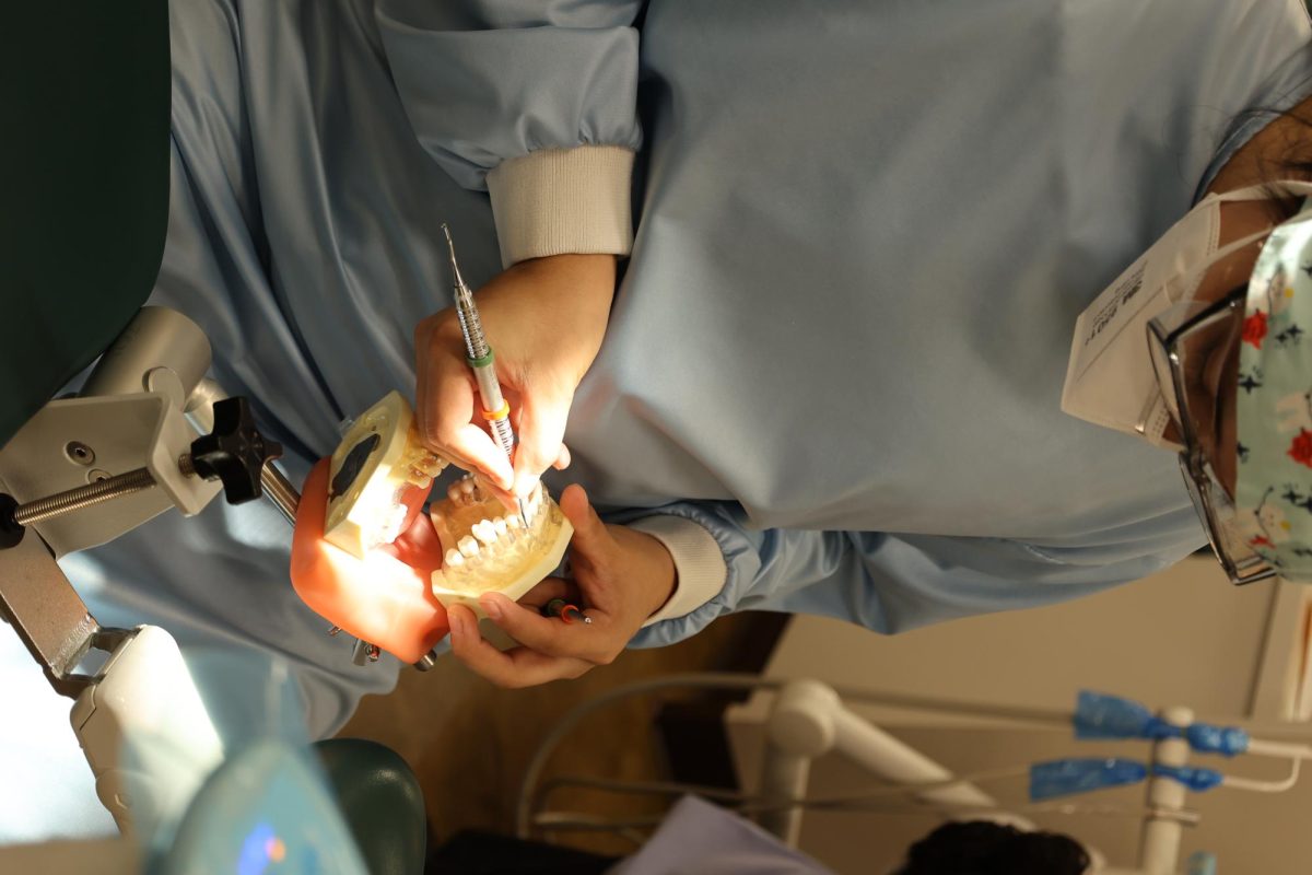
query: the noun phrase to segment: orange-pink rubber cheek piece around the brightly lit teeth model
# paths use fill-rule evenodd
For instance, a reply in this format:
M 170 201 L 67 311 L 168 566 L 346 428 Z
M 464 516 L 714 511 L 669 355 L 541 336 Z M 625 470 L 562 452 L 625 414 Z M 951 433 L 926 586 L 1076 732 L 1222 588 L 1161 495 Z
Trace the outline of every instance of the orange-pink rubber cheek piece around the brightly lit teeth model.
M 401 535 L 356 559 L 324 540 L 328 467 L 306 478 L 291 538 L 291 585 L 316 614 L 405 662 L 416 662 L 446 635 L 446 610 L 433 594 L 442 544 L 419 489 L 403 496 L 409 512 Z M 327 631 L 327 630 L 325 630 Z

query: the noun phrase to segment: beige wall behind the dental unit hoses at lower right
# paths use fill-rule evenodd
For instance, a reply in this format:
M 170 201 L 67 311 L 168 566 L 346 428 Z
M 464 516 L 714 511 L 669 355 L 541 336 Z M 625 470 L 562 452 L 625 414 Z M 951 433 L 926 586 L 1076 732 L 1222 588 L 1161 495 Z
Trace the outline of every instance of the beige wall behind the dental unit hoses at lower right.
M 1078 689 L 1126 695 L 1153 707 L 1187 704 L 1210 718 L 1249 718 L 1257 702 L 1267 725 L 1302 640 L 1303 590 L 1258 584 L 1237 590 L 1211 559 L 1190 559 L 1156 577 L 1055 607 L 972 618 L 884 638 L 845 623 L 798 618 L 766 669 L 773 677 L 817 677 L 836 686 L 937 695 L 1033 707 L 1073 707 Z M 1270 631 L 1269 631 L 1270 630 Z M 1290 659 L 1287 659 L 1290 657 Z M 740 769 L 758 756 L 758 724 L 768 697 L 731 714 Z M 1013 763 L 1102 753 L 1147 758 L 1141 744 L 1089 745 L 1067 732 L 956 727 L 888 710 L 854 708 L 891 728 L 924 753 L 964 774 Z M 1303 732 L 1303 739 L 1312 733 Z M 1277 778 L 1282 765 L 1263 760 L 1199 765 L 1232 774 Z M 830 754 L 815 766 L 811 790 L 859 788 L 869 777 Z M 1022 804 L 1025 779 L 984 790 Z M 1136 807 L 1143 790 L 1077 798 L 1093 804 Z M 1185 854 L 1220 854 L 1224 875 L 1284 875 L 1312 866 L 1312 775 L 1292 792 L 1267 796 L 1219 788 L 1191 796 L 1203 824 L 1186 833 Z M 1107 816 L 1036 816 L 1050 829 L 1071 832 L 1102 849 L 1113 863 L 1135 862 L 1139 823 Z M 886 872 L 905 846 L 933 828 L 914 815 L 811 813 L 803 850 L 844 875 Z M 1183 858 L 1182 858 L 1183 859 Z

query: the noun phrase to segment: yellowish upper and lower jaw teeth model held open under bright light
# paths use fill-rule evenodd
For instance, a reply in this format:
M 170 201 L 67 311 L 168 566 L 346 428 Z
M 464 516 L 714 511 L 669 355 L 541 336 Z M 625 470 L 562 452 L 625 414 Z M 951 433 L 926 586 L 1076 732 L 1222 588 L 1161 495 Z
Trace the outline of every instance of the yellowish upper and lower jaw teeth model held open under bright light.
M 357 558 L 391 543 L 445 467 L 419 439 L 409 403 L 390 392 L 356 420 L 332 455 L 324 538 Z M 525 501 L 525 516 L 527 525 L 472 475 L 451 484 L 430 512 L 445 552 L 432 581 L 438 601 L 482 617 L 480 594 L 514 601 L 551 573 L 573 527 L 542 484 Z

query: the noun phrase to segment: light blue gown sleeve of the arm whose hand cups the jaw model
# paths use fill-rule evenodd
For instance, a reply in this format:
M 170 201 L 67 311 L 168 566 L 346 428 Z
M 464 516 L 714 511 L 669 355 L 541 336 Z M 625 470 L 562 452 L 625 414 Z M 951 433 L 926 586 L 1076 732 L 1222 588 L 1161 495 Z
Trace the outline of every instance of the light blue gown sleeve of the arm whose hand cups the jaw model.
M 659 512 L 710 531 L 727 575 L 715 598 L 642 630 L 631 647 L 672 644 L 739 610 L 819 614 L 876 632 L 905 632 L 1089 596 L 1158 572 L 1200 546 L 1193 509 L 1166 514 L 1115 543 L 1061 548 L 1000 538 L 754 530 L 732 502 L 681 502 Z M 651 513 L 626 512 L 609 521 Z

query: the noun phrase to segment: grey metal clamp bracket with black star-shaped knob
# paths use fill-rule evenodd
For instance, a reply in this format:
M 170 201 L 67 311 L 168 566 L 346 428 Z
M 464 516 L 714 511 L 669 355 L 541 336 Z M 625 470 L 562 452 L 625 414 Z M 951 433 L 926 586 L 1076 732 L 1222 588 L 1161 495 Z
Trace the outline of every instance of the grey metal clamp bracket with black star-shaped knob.
M 62 695 L 96 681 L 76 673 L 89 649 L 114 651 L 135 632 L 102 628 L 59 556 L 172 506 L 198 513 L 220 485 L 236 504 L 260 497 L 266 479 L 286 484 L 269 464 L 282 449 L 260 434 L 244 399 L 215 404 L 210 434 L 197 438 L 186 415 L 209 411 L 216 394 L 209 366 L 192 320 L 146 307 L 77 396 L 47 403 L 0 451 L 0 614 Z

